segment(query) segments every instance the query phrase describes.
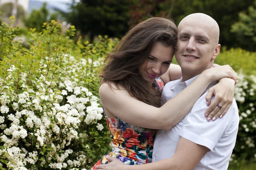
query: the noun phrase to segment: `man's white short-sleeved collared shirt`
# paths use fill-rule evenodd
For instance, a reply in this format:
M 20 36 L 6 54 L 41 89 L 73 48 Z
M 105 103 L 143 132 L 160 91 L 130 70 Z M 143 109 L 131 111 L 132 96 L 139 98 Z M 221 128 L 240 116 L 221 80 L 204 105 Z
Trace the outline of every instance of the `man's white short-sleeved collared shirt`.
M 196 77 L 185 82 L 182 82 L 181 78 L 167 83 L 163 88 L 162 101 L 166 102 L 172 99 L 191 84 Z M 216 83 L 212 82 L 207 91 Z M 158 130 L 154 142 L 153 161 L 171 158 L 175 153 L 180 136 L 182 136 L 210 149 L 194 170 L 227 170 L 238 132 L 238 108 L 236 101 L 233 99 L 233 103 L 225 116 L 208 122 L 204 116 L 208 108 L 205 100 L 207 91 L 175 127 L 170 130 Z

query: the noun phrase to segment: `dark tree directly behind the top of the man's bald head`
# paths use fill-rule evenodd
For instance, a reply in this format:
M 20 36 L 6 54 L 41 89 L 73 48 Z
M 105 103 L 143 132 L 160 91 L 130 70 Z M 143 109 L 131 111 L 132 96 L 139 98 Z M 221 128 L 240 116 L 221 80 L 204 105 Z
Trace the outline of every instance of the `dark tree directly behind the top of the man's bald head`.
M 230 32 L 230 28 L 238 20 L 239 12 L 247 10 L 254 0 L 176 0 L 172 9 L 172 18 L 179 23 L 188 14 L 201 12 L 215 19 L 220 27 L 221 45 L 239 47 L 236 36 Z M 173 0 L 166 0 L 161 5 L 166 13 L 170 10 Z

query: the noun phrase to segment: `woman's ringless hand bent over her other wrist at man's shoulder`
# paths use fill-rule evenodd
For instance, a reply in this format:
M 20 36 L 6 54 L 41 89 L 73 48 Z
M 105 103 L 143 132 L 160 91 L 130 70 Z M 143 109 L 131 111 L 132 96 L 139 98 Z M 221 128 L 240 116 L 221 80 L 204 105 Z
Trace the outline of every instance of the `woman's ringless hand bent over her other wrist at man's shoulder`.
M 206 74 L 206 77 L 212 81 L 218 81 L 224 77 L 231 78 L 237 83 L 238 77 L 236 72 L 230 67 L 230 65 L 220 65 L 218 67 L 209 68 L 203 71 L 202 74 Z

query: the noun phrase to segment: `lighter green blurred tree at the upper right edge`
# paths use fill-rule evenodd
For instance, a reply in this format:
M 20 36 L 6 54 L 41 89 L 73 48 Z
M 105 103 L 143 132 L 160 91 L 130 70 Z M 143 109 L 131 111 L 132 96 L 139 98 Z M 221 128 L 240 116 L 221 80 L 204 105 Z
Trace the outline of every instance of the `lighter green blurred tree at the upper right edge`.
M 231 27 L 231 32 L 236 34 L 237 43 L 248 51 L 256 51 L 256 1 L 247 12 L 239 13 L 239 21 Z

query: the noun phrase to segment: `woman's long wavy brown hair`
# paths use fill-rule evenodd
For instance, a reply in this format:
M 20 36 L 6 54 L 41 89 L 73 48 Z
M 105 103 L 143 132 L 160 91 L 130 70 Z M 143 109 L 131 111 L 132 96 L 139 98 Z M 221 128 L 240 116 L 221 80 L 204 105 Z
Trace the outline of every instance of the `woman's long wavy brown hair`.
M 177 27 L 171 20 L 154 17 L 139 23 L 119 41 L 113 53 L 108 54 L 102 68 L 101 82 L 114 82 L 124 87 L 131 96 L 149 105 L 160 107 L 161 94 L 152 90 L 138 72 L 155 42 L 176 48 Z M 109 84 L 110 85 L 110 84 Z

